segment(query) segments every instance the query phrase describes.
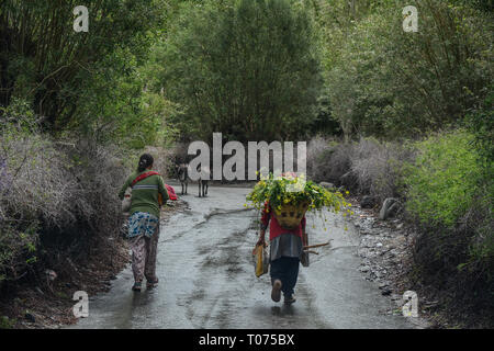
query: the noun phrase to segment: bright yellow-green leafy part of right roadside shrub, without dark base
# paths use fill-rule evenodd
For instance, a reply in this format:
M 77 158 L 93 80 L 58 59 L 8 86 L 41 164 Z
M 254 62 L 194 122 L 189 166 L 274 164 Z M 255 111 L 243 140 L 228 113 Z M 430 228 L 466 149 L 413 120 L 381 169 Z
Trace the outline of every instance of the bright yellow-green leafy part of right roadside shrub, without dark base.
M 407 210 L 428 226 L 454 227 L 473 206 L 481 169 L 471 145 L 459 131 L 417 143 L 418 155 L 405 176 Z

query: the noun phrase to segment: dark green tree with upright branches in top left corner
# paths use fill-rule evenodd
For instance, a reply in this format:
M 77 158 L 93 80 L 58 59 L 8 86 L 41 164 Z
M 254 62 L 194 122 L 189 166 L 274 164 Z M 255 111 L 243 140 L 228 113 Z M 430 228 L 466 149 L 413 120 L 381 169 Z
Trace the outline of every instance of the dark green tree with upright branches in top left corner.
M 85 3 L 89 33 L 76 33 L 72 10 L 79 4 L 4 0 L 0 11 L 0 37 L 5 38 L 0 46 L 0 105 L 25 99 L 52 132 L 61 132 L 78 115 L 88 102 L 88 89 L 98 88 L 103 78 L 101 69 L 111 66 L 119 75 L 130 75 L 122 64 L 126 57 L 115 53 L 144 61 L 167 13 L 162 0 L 91 0 Z

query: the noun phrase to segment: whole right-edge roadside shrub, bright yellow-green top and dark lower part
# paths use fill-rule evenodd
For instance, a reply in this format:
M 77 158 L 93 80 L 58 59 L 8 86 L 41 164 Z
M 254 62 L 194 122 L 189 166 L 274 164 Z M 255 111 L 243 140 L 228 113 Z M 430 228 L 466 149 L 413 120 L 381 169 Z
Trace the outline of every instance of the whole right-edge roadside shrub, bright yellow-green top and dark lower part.
M 494 306 L 493 182 L 479 158 L 474 136 L 464 131 L 416 143 L 407 165 L 406 207 L 417 219 L 414 247 L 420 281 L 442 292 L 450 315 L 492 324 Z M 487 166 L 487 167 L 492 167 Z M 446 297 L 445 297 L 446 296 Z M 470 314 L 469 314 L 470 315 Z

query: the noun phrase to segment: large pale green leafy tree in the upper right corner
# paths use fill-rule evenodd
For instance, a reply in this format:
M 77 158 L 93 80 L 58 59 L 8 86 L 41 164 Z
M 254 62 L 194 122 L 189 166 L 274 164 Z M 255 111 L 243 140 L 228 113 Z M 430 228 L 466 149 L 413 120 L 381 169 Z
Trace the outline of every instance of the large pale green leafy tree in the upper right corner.
M 417 33 L 402 29 L 406 4 L 418 9 Z M 458 125 L 483 99 L 492 14 L 435 0 L 382 2 L 367 13 L 328 42 L 327 92 L 347 137 L 424 135 Z

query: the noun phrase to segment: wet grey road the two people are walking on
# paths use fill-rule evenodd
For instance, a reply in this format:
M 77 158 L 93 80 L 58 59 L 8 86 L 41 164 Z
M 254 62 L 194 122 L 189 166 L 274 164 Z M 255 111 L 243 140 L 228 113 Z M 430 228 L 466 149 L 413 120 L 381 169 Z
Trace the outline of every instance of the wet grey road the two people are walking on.
M 332 214 L 328 231 L 319 218 L 307 217 L 311 244 L 333 241 L 311 254 L 310 268 L 301 267 L 297 302 L 273 303 L 269 274 L 254 274 L 257 213 L 243 206 L 248 191 L 212 186 L 206 199 L 183 196 L 190 208 L 161 227 L 159 287 L 133 293 L 127 267 L 109 293 L 90 296 L 89 317 L 72 327 L 413 328 L 405 317 L 388 314 L 395 304 L 358 271 L 353 228 L 345 231 L 344 219 Z

